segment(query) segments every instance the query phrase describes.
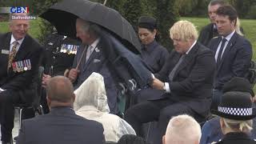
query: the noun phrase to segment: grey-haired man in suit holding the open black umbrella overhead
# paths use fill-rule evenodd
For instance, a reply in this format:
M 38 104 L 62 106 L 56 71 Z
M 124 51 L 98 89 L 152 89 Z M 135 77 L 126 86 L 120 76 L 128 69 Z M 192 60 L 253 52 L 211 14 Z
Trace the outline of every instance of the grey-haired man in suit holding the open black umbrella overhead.
M 68 74 L 74 88 L 82 84 L 93 72 L 102 74 L 106 86 L 106 96 L 110 106 L 110 113 L 117 114 L 118 89 L 110 74 L 109 63 L 103 53 L 100 31 L 96 24 L 86 22 L 80 18 L 76 22 L 77 37 L 82 40 L 77 55 L 74 58 L 73 68 Z

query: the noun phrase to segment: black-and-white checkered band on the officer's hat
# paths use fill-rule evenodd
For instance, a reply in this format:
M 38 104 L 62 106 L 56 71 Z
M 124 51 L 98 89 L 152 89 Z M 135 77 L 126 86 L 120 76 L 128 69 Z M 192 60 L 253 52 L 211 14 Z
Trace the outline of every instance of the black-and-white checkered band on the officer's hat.
M 233 107 L 222 107 L 218 106 L 218 111 L 224 114 L 231 114 L 231 115 L 252 115 L 253 108 L 233 108 Z

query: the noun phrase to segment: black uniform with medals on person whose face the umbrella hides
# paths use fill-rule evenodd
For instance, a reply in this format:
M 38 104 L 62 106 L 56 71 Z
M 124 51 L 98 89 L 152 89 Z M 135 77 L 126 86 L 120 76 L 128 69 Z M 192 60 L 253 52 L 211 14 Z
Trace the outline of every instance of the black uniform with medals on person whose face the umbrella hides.
M 50 34 L 45 42 L 45 74 L 63 75 L 74 61 L 74 56 L 81 42 L 57 33 Z

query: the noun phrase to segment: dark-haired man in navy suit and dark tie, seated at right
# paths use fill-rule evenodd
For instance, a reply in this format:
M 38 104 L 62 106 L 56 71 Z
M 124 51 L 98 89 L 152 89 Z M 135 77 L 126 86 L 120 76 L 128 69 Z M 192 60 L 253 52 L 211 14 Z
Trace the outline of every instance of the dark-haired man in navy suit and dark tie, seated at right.
M 212 103 L 215 110 L 221 101 L 222 86 L 231 78 L 245 77 L 252 58 L 250 42 L 235 31 L 238 14 L 234 7 L 221 6 L 216 14 L 215 21 L 220 36 L 211 39 L 209 43 L 217 63 Z

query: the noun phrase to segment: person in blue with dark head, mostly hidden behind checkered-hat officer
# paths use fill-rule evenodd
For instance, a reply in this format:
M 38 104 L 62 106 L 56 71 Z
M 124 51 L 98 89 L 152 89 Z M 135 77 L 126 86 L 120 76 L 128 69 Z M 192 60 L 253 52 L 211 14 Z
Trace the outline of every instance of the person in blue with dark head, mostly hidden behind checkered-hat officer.
M 234 77 L 230 82 L 226 82 L 223 86 L 222 92 L 225 94 L 229 91 L 240 91 L 250 93 L 252 99 L 254 99 L 254 91 L 250 86 L 250 82 L 245 78 Z M 219 123 L 219 117 L 212 118 L 202 126 L 202 138 L 200 144 L 208 144 L 212 142 L 218 142 L 223 137 L 222 129 Z M 256 127 L 256 118 L 253 119 Z M 256 138 L 256 130 L 252 130 L 250 134 L 251 138 Z

